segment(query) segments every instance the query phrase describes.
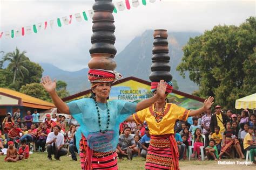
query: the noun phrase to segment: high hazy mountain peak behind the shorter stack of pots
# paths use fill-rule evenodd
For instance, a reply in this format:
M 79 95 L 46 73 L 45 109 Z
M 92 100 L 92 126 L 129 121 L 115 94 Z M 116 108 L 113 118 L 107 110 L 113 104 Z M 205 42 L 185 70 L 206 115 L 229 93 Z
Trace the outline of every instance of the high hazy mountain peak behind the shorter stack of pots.
M 134 38 L 130 44 L 114 58 L 118 63 L 117 71 L 123 74 L 124 77 L 136 76 L 140 79 L 150 81 L 153 32 L 153 30 L 147 30 L 142 36 Z M 168 35 L 171 74 L 173 79 L 177 80 L 179 90 L 191 94 L 194 90 L 198 90 L 197 84 L 190 81 L 188 74 L 186 74 L 186 79 L 183 79 L 183 77 L 179 75 L 179 72 L 176 71 L 176 67 L 183 56 L 183 46 L 186 45 L 191 37 L 199 36 L 200 33 L 168 32 Z

